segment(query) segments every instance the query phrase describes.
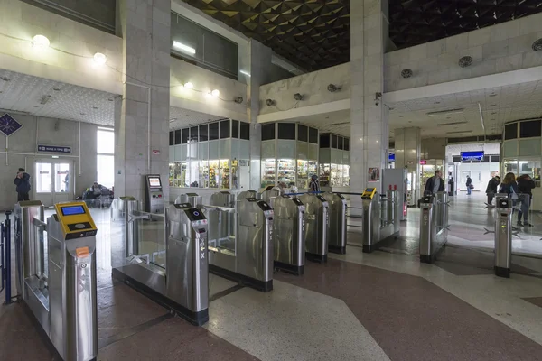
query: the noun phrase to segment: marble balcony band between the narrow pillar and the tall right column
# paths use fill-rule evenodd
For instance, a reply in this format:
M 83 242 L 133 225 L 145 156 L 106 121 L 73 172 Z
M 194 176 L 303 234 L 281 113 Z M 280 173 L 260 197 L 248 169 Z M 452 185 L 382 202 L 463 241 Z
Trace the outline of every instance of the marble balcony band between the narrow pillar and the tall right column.
M 330 92 L 327 90 L 330 84 L 341 89 Z M 304 99 L 295 100 L 296 93 L 301 94 Z M 274 113 L 293 107 L 315 106 L 349 97 L 350 63 L 346 63 L 261 86 L 259 88 L 260 114 Z M 275 100 L 276 106 L 267 106 L 266 99 Z

